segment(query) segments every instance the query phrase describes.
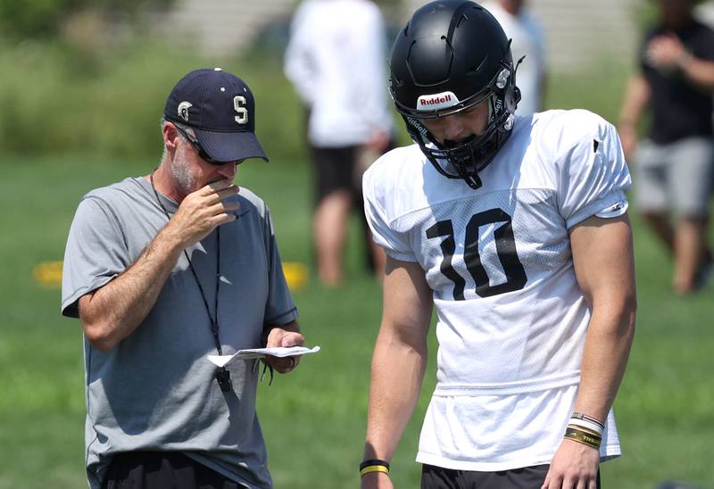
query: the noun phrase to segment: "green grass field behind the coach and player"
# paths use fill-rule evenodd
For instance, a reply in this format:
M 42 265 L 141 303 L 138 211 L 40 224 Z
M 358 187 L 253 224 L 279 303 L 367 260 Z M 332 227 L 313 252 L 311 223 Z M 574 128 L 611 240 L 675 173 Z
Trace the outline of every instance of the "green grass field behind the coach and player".
M 555 79 L 550 105 L 585 106 L 614 120 L 622 75 L 600 75 L 577 82 Z M 59 290 L 39 286 L 32 270 L 39 262 L 62 259 L 81 195 L 145 174 L 152 164 L 88 157 L 0 162 L 0 489 L 86 486 L 81 332 L 76 321 L 60 316 Z M 308 168 L 300 161 L 249 162 L 239 170 L 237 181 L 270 204 L 284 261 L 311 262 Z M 638 329 L 615 404 L 625 456 L 603 465 L 604 486 L 653 488 L 677 479 L 714 487 L 714 287 L 684 299 L 670 294 L 667 255 L 639 220 L 634 224 Z M 295 293 L 308 344 L 323 350 L 295 373 L 259 389 L 278 489 L 359 484 L 369 360 L 381 313 L 379 286 L 361 269 L 361 253 L 353 239 L 348 285 L 327 290 L 312 273 Z M 393 461 L 394 481 L 406 489 L 418 486 L 413 459 L 435 384 L 433 336 L 432 331 L 419 407 Z

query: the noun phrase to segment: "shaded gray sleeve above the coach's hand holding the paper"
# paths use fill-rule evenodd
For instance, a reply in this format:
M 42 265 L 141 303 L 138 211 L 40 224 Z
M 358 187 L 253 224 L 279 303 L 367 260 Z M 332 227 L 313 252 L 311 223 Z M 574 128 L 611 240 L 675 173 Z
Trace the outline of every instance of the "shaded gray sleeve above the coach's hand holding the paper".
M 278 242 L 275 239 L 275 230 L 270 218 L 270 211 L 265 208 L 265 245 L 268 254 L 268 300 L 265 303 L 263 321 L 266 325 L 286 325 L 297 319 L 297 308 L 293 303 L 293 296 L 287 286 L 283 264 L 280 261 Z

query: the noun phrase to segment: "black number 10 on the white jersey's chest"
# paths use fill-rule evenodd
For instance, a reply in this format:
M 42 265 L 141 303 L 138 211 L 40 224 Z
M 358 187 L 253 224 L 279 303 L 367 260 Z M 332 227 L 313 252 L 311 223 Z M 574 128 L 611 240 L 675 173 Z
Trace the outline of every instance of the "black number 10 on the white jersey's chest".
M 511 216 L 502 209 L 491 209 L 474 214 L 471 216 L 469 224 L 466 225 L 463 261 L 466 263 L 469 275 L 476 282 L 476 294 L 480 297 L 513 292 L 526 286 L 526 270 L 523 269 L 523 264 L 519 261 L 519 255 L 516 252 L 516 240 L 513 237 L 511 221 Z M 501 261 L 501 266 L 507 279 L 502 284 L 491 286 L 486 269 L 481 263 L 481 254 L 478 252 L 478 228 L 496 222 L 503 223 L 499 228 L 495 228 L 494 238 L 498 260 Z M 453 269 L 452 265 L 453 253 L 456 251 L 452 220 L 438 221 L 434 226 L 427 229 L 427 237 L 446 238 L 441 242 L 444 260 L 439 268 L 444 276 L 453 282 L 453 300 L 463 301 L 463 289 L 466 286 L 466 280 Z

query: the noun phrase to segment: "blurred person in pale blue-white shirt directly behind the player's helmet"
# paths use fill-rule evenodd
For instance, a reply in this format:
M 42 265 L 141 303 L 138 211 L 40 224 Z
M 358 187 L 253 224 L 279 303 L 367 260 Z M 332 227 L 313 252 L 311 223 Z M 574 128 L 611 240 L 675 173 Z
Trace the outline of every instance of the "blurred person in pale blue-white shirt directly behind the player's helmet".
M 543 110 L 545 97 L 545 36 L 525 0 L 487 0 L 483 4 L 511 39 L 513 62 L 519 62 L 520 102 L 516 113 L 527 115 Z

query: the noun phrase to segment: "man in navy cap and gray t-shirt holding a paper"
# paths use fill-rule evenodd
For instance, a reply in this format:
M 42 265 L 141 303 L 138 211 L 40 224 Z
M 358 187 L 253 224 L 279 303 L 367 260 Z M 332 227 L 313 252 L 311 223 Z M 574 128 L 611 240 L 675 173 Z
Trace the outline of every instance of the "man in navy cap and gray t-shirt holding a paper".
M 92 489 L 272 486 L 258 361 L 206 358 L 304 341 L 270 212 L 233 184 L 238 163 L 267 161 L 254 117 L 243 80 L 191 71 L 166 101 L 159 167 L 79 203 L 62 314 L 84 330 Z

